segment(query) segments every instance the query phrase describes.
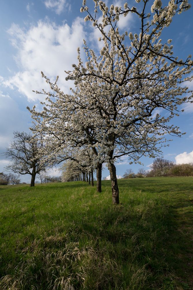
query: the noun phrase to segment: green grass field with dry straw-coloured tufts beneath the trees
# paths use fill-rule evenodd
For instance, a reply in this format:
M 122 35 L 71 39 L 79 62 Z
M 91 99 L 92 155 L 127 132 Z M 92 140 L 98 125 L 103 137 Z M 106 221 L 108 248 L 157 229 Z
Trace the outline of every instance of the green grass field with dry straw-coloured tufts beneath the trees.
M 193 177 L 0 186 L 0 289 L 193 289 Z

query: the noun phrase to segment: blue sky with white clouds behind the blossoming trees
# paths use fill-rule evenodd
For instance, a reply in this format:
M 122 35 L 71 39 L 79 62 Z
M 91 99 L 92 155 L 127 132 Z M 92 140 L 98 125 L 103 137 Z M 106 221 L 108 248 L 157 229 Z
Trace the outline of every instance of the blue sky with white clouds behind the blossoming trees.
M 87 0 L 87 5 L 92 6 L 92 2 Z M 72 84 L 65 81 L 64 70 L 70 70 L 71 64 L 76 62 L 77 47 L 83 47 L 83 38 L 95 50 L 100 47 L 97 31 L 83 21 L 85 14 L 80 13 L 81 3 L 81 0 L 1 1 L 0 172 L 8 164 L 2 153 L 11 142 L 13 131 L 28 132 L 31 126 L 26 106 L 39 106 L 39 102 L 43 101 L 42 96 L 32 92 L 47 88 L 41 70 L 52 80 L 59 75 L 59 85 L 65 93 L 69 93 Z M 108 0 L 107 4 L 112 3 L 123 6 L 124 2 Z M 129 3 L 131 6 L 138 5 L 134 0 Z M 167 1 L 162 3 L 165 6 Z M 162 35 L 162 38 L 172 39 L 174 55 L 182 59 L 192 54 L 192 9 L 175 15 Z M 120 26 L 124 31 L 138 33 L 137 22 L 132 17 L 122 19 Z M 81 55 L 84 60 L 83 52 Z M 193 83 L 188 85 L 193 89 Z M 193 162 L 193 104 L 185 105 L 184 109 L 172 124 L 187 133 L 182 138 L 173 137 L 170 146 L 163 148 L 164 158 L 177 163 Z M 123 162 L 116 165 L 117 175 L 122 176 L 128 168 L 134 172 L 141 167 L 147 170 L 153 159 L 142 158 L 141 161 L 144 166 L 129 165 L 124 157 Z M 58 175 L 58 172 L 53 169 L 50 174 Z M 108 175 L 108 170 L 104 170 L 103 177 Z M 22 176 L 21 180 L 29 181 L 30 176 Z

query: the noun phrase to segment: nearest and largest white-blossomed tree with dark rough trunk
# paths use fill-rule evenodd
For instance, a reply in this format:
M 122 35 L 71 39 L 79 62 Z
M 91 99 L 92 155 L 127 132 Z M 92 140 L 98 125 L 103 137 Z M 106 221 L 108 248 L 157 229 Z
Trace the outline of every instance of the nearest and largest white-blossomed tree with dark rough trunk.
M 101 33 L 100 54 L 89 49 L 84 41 L 88 58 L 84 65 L 78 49 L 78 64 L 66 72 L 66 80 L 71 79 L 75 84 L 71 95 L 65 95 L 56 82 L 52 84 L 42 73 L 56 94 L 43 91 L 48 95 L 44 110 L 30 111 L 36 129 L 46 130 L 48 134 L 50 128 L 50 136 L 60 140 L 60 146 L 61 140 L 70 146 L 88 146 L 95 152 L 97 164 L 108 164 L 112 199 L 118 204 L 114 162 L 124 155 L 131 162 L 140 162 L 141 156 L 158 156 L 162 146 L 167 146 L 165 134 L 181 136 L 179 128 L 170 124 L 170 120 L 182 111 L 179 106 L 191 99 L 191 91 L 183 82 L 192 79 L 188 77 L 192 61 L 191 56 L 185 60 L 174 57 L 172 40 L 162 43 L 161 34 L 176 12 L 180 14 L 190 5 L 187 0 L 171 0 L 162 7 L 162 1 L 155 0 L 150 13 L 146 11 L 148 0 L 140 3 L 139 8 L 130 8 L 125 3 L 123 9 L 113 5 L 108 8 L 103 1 L 93 1 L 94 14 L 89 12 L 85 0 L 81 12 L 87 13 L 85 21 L 92 21 Z M 140 19 L 139 35 L 119 32 L 119 18 L 129 13 Z M 56 97 L 55 102 L 51 96 Z

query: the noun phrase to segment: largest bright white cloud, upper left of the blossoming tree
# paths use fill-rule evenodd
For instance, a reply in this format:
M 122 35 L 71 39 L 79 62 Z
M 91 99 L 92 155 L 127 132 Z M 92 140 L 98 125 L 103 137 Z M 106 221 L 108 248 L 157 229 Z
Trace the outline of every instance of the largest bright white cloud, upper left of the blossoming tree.
M 12 89 L 16 87 L 29 100 L 42 100 L 44 96 L 36 95 L 32 90 L 49 90 L 41 77 L 43 71 L 52 81 L 59 75 L 58 85 L 64 93 L 69 93 L 72 83 L 65 81 L 64 70 L 72 69 L 77 59 L 77 47 L 83 44 L 83 20 L 77 17 L 71 27 L 68 24 L 57 26 L 48 20 L 39 21 L 27 31 L 13 23 L 8 32 L 12 45 L 18 49 L 19 72 L 3 79 L 3 84 Z

